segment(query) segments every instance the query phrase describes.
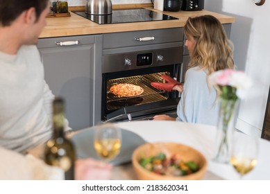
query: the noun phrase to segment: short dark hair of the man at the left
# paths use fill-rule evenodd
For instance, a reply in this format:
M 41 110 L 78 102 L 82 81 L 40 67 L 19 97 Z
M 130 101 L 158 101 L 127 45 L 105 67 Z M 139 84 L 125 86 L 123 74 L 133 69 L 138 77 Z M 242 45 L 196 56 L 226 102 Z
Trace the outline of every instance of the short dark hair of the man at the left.
M 35 15 L 39 19 L 41 12 L 47 7 L 49 0 L 0 0 L 0 26 L 10 26 L 19 15 L 35 8 Z

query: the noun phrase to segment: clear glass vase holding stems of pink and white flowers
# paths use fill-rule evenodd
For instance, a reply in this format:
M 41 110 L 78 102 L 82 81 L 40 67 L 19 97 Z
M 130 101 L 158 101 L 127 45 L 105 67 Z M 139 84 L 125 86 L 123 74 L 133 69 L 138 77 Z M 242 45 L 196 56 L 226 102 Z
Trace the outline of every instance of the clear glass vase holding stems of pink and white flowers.
M 238 99 L 219 99 L 219 121 L 214 145 L 214 161 L 228 164 L 230 162 L 230 149 L 235 130 Z

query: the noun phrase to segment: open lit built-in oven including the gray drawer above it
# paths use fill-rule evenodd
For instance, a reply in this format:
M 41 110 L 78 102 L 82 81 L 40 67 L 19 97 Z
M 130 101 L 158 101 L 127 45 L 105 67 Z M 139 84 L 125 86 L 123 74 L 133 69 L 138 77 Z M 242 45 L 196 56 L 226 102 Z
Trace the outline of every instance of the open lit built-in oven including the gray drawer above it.
M 103 47 L 101 121 L 151 120 L 156 114 L 176 116 L 180 94 L 155 89 L 151 82 L 164 82 L 162 74 L 181 80 L 181 28 L 105 35 Z M 140 86 L 143 93 L 117 96 L 110 91 L 117 84 Z

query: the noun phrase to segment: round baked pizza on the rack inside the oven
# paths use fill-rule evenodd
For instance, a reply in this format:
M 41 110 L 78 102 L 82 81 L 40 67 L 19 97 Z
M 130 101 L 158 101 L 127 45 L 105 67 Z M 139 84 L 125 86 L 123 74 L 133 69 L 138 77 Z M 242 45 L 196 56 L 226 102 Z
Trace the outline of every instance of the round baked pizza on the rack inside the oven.
M 138 85 L 132 84 L 117 84 L 110 87 L 110 92 L 118 97 L 139 96 L 144 92 L 144 89 Z

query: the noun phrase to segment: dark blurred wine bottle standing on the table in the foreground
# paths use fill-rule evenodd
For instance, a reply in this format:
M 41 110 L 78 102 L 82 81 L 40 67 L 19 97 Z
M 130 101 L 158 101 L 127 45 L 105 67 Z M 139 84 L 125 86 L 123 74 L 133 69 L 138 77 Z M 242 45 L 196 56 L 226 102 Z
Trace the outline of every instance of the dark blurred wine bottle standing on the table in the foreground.
M 73 143 L 65 137 L 65 101 L 53 100 L 53 137 L 47 141 L 44 152 L 45 162 L 59 166 L 65 171 L 65 179 L 74 179 L 75 150 Z

